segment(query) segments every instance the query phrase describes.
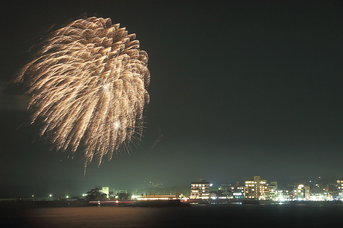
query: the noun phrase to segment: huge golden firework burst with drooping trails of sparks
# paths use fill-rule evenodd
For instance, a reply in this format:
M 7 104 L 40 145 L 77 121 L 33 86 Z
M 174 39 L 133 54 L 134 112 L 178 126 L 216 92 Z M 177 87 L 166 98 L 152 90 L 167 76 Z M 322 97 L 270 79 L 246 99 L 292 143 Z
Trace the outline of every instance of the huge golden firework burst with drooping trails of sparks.
M 84 145 L 84 171 L 93 156 L 100 165 L 142 136 L 150 73 L 134 38 L 109 18 L 74 21 L 49 35 L 15 80 L 28 87 L 41 137 L 61 151 Z

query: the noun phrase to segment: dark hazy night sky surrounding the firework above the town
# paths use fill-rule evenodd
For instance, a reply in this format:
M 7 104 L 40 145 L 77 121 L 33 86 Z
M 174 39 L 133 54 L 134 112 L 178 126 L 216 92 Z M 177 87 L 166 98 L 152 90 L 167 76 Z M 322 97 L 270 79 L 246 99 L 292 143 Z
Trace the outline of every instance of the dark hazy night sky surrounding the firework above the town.
M 25 100 L 3 89 L 1 194 L 137 188 L 144 179 L 342 177 L 342 2 L 10 4 L 1 13 L 2 88 L 39 33 L 86 13 L 137 34 L 149 55 L 151 101 L 139 149 L 99 168 L 92 162 L 84 177 L 83 162 L 48 152 L 38 125 L 17 129 L 29 116 Z M 151 149 L 158 128 L 164 136 Z

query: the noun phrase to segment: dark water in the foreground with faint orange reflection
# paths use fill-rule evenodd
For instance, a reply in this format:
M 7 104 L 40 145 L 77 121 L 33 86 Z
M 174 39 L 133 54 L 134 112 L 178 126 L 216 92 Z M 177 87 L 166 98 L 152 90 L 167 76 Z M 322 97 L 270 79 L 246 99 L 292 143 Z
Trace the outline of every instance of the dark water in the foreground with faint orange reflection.
M 343 204 L 1 209 L 1 227 L 343 227 Z

